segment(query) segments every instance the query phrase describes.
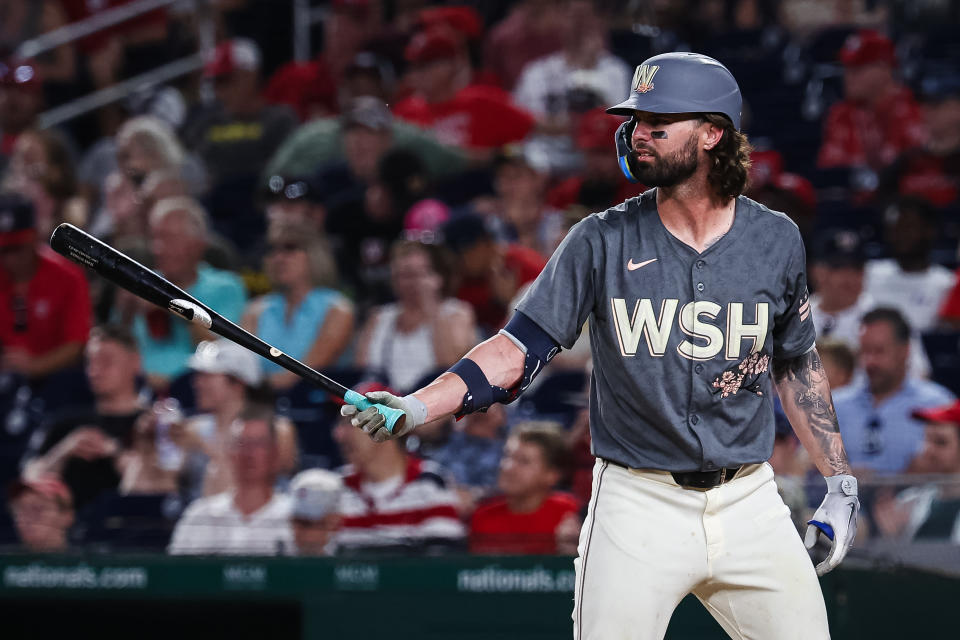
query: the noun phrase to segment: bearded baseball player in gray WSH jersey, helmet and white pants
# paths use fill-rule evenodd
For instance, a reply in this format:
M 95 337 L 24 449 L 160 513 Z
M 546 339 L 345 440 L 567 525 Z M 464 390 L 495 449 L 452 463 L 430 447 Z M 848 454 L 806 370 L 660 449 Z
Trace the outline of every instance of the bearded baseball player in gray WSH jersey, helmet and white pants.
M 393 433 L 510 402 L 590 319 L 593 493 L 575 560 L 574 637 L 662 638 L 688 593 L 733 638 L 829 637 L 817 575 L 856 534 L 850 475 L 814 347 L 804 249 L 782 213 L 741 196 L 749 145 L 722 64 L 654 56 L 608 110 L 621 169 L 650 185 L 571 230 L 500 333 L 430 385 L 368 397 L 404 412 Z M 804 542 L 765 462 L 773 389 L 827 493 Z

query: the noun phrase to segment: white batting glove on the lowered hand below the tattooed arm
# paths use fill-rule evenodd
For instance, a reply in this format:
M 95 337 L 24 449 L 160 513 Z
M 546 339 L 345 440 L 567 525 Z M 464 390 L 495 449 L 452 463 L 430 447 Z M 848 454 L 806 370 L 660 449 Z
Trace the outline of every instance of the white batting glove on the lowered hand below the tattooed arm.
M 827 495 L 820 508 L 807 521 L 807 531 L 803 544 L 812 549 L 819 534 L 832 541 L 827 558 L 817 565 L 817 575 L 822 576 L 832 570 L 847 555 L 857 537 L 857 514 L 860 500 L 857 498 L 857 479 L 850 475 L 830 476 L 827 481 Z

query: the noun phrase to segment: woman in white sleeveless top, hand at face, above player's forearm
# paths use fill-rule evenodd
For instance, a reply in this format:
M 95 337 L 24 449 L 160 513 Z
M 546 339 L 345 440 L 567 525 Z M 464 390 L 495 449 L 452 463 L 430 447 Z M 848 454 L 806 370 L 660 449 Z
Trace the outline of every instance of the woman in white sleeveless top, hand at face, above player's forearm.
M 436 245 L 401 240 L 390 258 L 396 302 L 375 307 L 357 346 L 357 365 L 401 391 L 460 359 L 476 342 L 473 310 L 449 296 L 450 266 Z

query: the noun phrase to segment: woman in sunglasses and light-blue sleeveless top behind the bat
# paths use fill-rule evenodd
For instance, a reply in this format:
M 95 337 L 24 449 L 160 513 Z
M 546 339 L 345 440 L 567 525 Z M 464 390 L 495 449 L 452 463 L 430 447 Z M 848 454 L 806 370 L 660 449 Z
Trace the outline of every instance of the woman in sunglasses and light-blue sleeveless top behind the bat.
M 353 304 L 334 289 L 333 254 L 326 239 L 305 223 L 277 222 L 267 231 L 264 268 L 273 291 L 252 301 L 243 327 L 314 369 L 337 362 L 353 337 Z M 263 360 L 275 390 L 300 378 Z

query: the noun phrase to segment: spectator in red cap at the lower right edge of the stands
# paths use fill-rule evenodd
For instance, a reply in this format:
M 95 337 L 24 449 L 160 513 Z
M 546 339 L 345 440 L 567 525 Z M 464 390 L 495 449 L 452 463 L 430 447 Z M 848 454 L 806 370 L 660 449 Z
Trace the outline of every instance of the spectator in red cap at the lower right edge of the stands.
M 881 535 L 910 541 L 949 541 L 960 544 L 960 401 L 919 409 L 913 417 L 924 423 L 923 449 L 914 459 L 915 473 L 937 474 L 928 482 L 896 496 L 881 493 L 873 517 Z

